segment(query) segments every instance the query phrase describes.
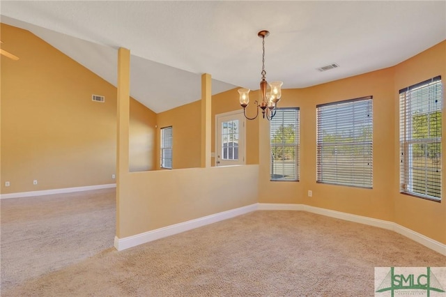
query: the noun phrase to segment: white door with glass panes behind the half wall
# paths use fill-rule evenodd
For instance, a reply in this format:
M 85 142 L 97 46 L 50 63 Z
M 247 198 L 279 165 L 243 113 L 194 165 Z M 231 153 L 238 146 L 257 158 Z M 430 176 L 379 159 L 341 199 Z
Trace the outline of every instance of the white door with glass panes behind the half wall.
M 217 114 L 215 165 L 245 164 L 245 116 L 243 113 Z

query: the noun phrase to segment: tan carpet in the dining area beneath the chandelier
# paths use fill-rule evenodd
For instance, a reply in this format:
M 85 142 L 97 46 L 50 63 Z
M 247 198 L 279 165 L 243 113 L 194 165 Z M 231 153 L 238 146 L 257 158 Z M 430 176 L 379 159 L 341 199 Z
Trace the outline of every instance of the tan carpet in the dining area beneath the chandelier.
M 109 248 L 1 296 L 374 296 L 376 266 L 446 266 L 446 257 L 385 229 L 256 211 L 122 252 Z

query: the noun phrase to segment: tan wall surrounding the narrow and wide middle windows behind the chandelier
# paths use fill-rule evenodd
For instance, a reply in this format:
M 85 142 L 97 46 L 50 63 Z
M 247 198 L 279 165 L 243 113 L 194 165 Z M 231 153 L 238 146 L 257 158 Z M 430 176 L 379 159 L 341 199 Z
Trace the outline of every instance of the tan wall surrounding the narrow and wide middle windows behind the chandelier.
M 261 125 L 261 202 L 303 203 L 335 211 L 355 213 L 371 218 L 392 220 L 393 133 L 392 119 L 393 70 L 381 70 L 303 90 L 284 90 L 282 107 L 300 107 L 300 181 L 269 181 L 268 129 Z M 373 189 L 351 188 L 316 183 L 316 105 L 374 96 L 374 186 Z M 390 146 L 389 146 L 390 144 Z M 307 197 L 307 191 L 313 197 Z M 272 195 L 277 192 L 279 195 Z M 272 200 L 272 201 L 271 201 Z

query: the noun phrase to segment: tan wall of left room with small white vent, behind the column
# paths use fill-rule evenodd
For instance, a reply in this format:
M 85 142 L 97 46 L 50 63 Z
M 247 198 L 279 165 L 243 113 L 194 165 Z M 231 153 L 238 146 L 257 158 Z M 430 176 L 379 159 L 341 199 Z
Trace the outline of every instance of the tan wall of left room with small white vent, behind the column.
M 114 183 L 116 87 L 29 31 L 1 40 L 20 57 L 1 56 L 1 193 Z M 154 169 L 155 114 L 132 100 L 130 121 L 130 169 Z

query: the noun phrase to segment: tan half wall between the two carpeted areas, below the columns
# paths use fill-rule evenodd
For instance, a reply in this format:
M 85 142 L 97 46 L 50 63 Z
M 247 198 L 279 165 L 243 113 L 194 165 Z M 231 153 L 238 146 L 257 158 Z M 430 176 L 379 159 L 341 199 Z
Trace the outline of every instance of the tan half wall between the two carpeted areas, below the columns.
M 258 176 L 258 165 L 126 174 L 116 236 L 125 238 L 254 204 Z

